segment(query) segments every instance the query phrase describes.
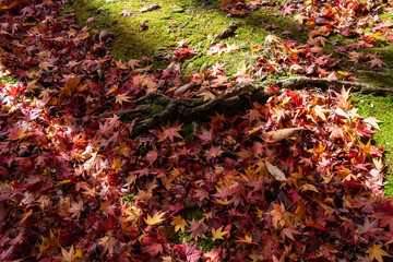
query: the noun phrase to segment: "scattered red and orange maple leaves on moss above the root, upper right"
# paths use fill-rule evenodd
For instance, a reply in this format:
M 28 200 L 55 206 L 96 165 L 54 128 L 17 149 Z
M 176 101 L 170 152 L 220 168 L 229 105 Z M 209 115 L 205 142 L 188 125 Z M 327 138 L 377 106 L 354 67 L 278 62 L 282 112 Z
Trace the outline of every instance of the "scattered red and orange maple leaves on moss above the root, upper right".
M 369 68 L 382 68 L 384 62 L 378 53 L 367 53 L 377 43 L 384 39 L 392 41 L 392 23 L 388 19 L 379 17 L 378 11 L 382 3 L 376 1 L 227 1 L 224 0 L 222 9 L 235 14 L 243 9 L 262 7 L 272 11 L 278 9 L 283 15 L 294 15 L 297 31 L 309 31 L 309 39 L 298 43 L 291 39 L 294 32 L 282 32 L 282 37 L 271 34 L 266 43 L 254 45 L 251 50 L 260 50 L 260 56 L 251 68 L 257 79 L 263 80 L 269 74 L 287 75 L 288 73 L 308 76 L 344 79 L 353 81 L 352 69 L 345 69 L 340 63 L 345 56 L 354 63 L 362 63 Z M 276 29 L 274 24 L 267 29 Z M 371 31 L 371 33 L 367 33 Z M 324 47 L 330 35 L 341 35 L 350 38 L 354 44 L 340 46 L 326 53 Z M 286 38 L 286 39 L 285 39 Z M 267 44 L 267 46 L 266 46 Z M 231 50 L 231 49 L 229 49 Z M 228 51 L 225 44 L 217 44 L 211 48 L 210 55 Z

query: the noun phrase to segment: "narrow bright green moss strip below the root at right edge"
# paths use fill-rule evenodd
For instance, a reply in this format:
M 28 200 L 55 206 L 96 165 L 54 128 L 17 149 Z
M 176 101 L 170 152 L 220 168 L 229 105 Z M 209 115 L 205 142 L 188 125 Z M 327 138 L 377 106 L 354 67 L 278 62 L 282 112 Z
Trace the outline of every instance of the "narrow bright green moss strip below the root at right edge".
M 379 124 L 381 131 L 373 135 L 376 146 L 383 146 L 384 148 L 384 170 L 388 176 L 388 184 L 385 186 L 385 193 L 393 196 L 393 97 L 374 97 L 360 96 L 353 94 L 353 102 L 357 108 L 358 114 L 364 117 L 376 117 L 382 122 Z

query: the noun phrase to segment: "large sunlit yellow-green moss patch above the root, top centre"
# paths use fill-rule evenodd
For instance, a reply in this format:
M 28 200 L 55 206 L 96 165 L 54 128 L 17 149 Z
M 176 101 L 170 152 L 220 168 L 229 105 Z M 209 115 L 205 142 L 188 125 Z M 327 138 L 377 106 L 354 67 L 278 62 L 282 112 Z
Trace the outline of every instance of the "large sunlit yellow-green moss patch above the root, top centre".
M 205 0 L 168 0 L 162 2 L 162 8 L 141 13 L 142 7 L 153 3 L 148 1 L 114 1 L 108 3 L 106 0 L 75 0 L 67 7 L 68 11 L 75 12 L 82 25 L 88 25 L 92 34 L 98 34 L 102 29 L 115 33 L 116 37 L 111 45 L 111 53 L 117 59 L 140 59 L 144 56 L 154 57 L 169 47 L 177 45 L 177 41 L 186 39 L 189 47 L 199 51 L 205 49 L 212 43 L 213 37 L 223 31 L 233 21 L 242 22 L 235 35 L 224 43 L 236 44 L 248 47 L 237 53 L 225 53 L 221 57 L 203 56 L 196 59 L 184 71 L 186 75 L 192 71 L 199 71 L 205 62 L 215 64 L 218 61 L 225 64 L 226 74 L 233 75 L 239 71 L 243 64 L 254 61 L 257 53 L 249 49 L 254 44 L 263 44 L 266 35 L 274 34 L 281 37 L 284 31 L 289 31 L 293 38 L 305 41 L 308 38 L 307 31 L 296 31 L 298 24 L 290 16 L 272 15 L 272 12 L 279 13 L 278 10 L 267 11 L 260 9 L 243 17 L 226 17 L 226 12 L 219 9 L 221 1 Z M 184 9 L 182 13 L 172 13 L 176 8 Z M 131 16 L 120 15 L 122 10 L 133 12 Z M 66 13 L 64 11 L 63 13 Z M 91 23 L 87 19 L 95 17 Z M 142 31 L 140 24 L 144 21 L 148 28 Z M 276 29 L 266 29 L 266 25 L 276 25 Z M 285 38 L 285 37 L 284 37 Z M 165 63 L 153 59 L 155 67 L 166 67 Z

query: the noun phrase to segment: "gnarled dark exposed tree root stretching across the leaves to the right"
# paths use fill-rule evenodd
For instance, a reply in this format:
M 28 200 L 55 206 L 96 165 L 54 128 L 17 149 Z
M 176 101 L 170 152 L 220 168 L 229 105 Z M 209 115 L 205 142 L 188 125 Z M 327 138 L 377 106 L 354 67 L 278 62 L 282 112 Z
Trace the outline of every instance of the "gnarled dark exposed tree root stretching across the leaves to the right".
M 276 85 L 281 88 L 300 90 L 318 87 L 322 91 L 340 91 L 344 86 L 346 88 L 352 87 L 353 92 L 360 94 L 393 95 L 393 88 L 376 87 L 368 84 L 332 79 L 289 78 L 277 81 Z M 192 122 L 195 120 L 206 120 L 215 110 L 227 114 L 236 112 L 250 106 L 252 102 L 264 103 L 270 96 L 273 96 L 273 94 L 266 94 L 265 87 L 255 83 L 240 83 L 210 100 L 203 100 L 202 98 L 174 98 L 160 93 L 148 93 L 134 100 L 136 108 L 117 111 L 115 115 L 119 116 L 122 121 L 131 121 L 138 116 L 152 115 L 154 104 L 164 107 L 162 111 L 155 112 L 136 123 L 133 134 L 138 135 L 159 124 L 166 124 L 167 121 L 180 120 L 182 122 Z

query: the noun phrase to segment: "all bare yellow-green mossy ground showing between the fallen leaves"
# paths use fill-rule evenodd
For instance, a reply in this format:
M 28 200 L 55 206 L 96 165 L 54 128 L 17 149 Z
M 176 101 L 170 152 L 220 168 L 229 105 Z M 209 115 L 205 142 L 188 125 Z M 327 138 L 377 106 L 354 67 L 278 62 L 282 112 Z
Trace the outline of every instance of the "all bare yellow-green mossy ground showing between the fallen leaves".
M 298 41 L 306 41 L 308 31 L 296 31 L 297 22 L 290 16 L 281 15 L 278 10 L 266 11 L 260 9 L 242 17 L 227 17 L 225 12 L 219 9 L 219 0 L 167 0 L 157 1 L 162 8 L 141 13 L 140 10 L 154 0 L 74 0 L 67 7 L 67 11 L 74 12 L 82 25 L 88 25 L 92 33 L 100 29 L 115 33 L 111 45 L 111 53 L 121 60 L 140 59 L 144 56 L 154 57 L 167 51 L 170 47 L 177 46 L 177 41 L 186 39 L 189 47 L 196 50 L 206 48 L 214 35 L 227 27 L 230 22 L 241 22 L 241 26 L 236 34 L 225 39 L 227 44 L 245 47 L 235 53 L 223 53 L 219 57 L 202 56 L 191 62 L 184 70 L 184 74 L 192 71 L 200 71 L 202 67 L 213 66 L 217 61 L 224 66 L 227 75 L 231 75 L 251 66 L 258 53 L 250 47 L 255 44 L 263 44 L 265 36 L 274 34 L 285 38 L 283 32 L 289 31 L 291 38 Z M 174 9 L 183 9 L 181 13 L 174 13 Z M 121 16 L 122 10 L 133 12 L 131 16 Z M 64 14 L 67 12 L 64 10 Z M 94 21 L 87 23 L 87 19 Z M 393 21 L 392 14 L 383 14 L 382 17 Z M 143 31 L 140 24 L 147 21 L 147 29 Z M 274 25 L 276 28 L 266 27 Z M 337 46 L 356 43 L 356 38 L 347 38 L 338 35 L 327 37 L 325 52 L 329 55 Z M 393 86 L 393 45 L 383 36 L 374 43 L 373 48 L 367 50 L 368 53 L 378 53 L 385 64 L 380 69 L 371 68 L 368 63 L 350 62 L 346 56 L 343 59 L 340 70 L 350 72 L 352 75 L 361 82 L 378 86 Z M 158 67 L 165 67 L 163 61 L 152 61 Z M 385 164 L 388 174 L 391 175 L 385 187 L 386 194 L 393 196 L 393 98 L 392 97 L 360 97 L 354 96 L 355 106 L 360 110 L 362 117 L 377 117 L 383 122 L 380 124 L 381 132 L 374 135 L 378 146 L 383 145 L 385 150 Z M 371 106 L 373 105 L 373 106 Z

